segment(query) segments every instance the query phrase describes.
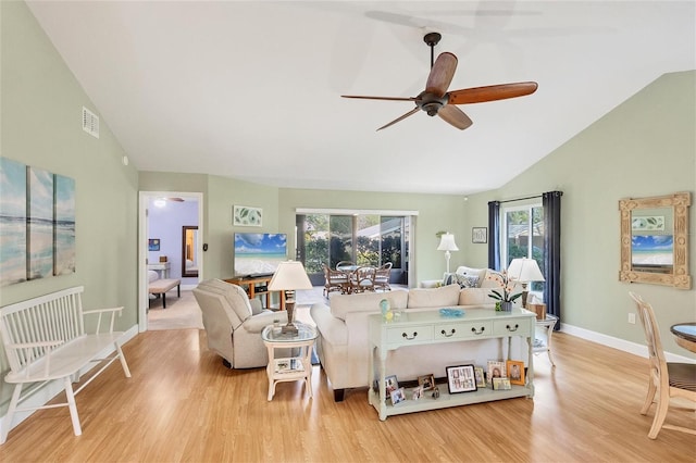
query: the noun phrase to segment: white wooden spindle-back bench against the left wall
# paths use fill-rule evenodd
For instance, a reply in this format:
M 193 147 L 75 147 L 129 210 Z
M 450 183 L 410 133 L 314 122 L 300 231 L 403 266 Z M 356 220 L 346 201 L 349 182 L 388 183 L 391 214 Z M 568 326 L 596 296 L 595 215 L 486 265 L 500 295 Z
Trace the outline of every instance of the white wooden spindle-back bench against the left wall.
M 82 286 L 69 288 L 0 309 L 0 336 L 10 363 L 10 372 L 4 380 L 15 385 L 0 433 L 0 443 L 4 443 L 8 438 L 15 412 L 57 406 L 70 409 L 73 430 L 75 436 L 79 436 L 82 428 L 75 396 L 116 359 L 121 360 L 126 377 L 130 377 L 120 345 L 125 334 L 113 330 L 114 317 L 116 313 L 121 315 L 123 308 L 83 311 L 83 290 Z M 97 317 L 94 334 L 85 333 L 85 315 Z M 108 333 L 100 333 L 102 315 L 104 325 L 109 325 Z M 113 354 L 98 358 L 101 352 L 108 352 L 111 346 L 115 349 Z M 73 391 L 72 384 L 79 380 L 80 371 L 84 373 L 88 366 L 94 367 L 99 363 L 103 363 L 101 368 Z M 64 383 L 66 402 L 18 406 L 40 387 L 55 379 Z M 25 384 L 32 386 L 22 395 Z

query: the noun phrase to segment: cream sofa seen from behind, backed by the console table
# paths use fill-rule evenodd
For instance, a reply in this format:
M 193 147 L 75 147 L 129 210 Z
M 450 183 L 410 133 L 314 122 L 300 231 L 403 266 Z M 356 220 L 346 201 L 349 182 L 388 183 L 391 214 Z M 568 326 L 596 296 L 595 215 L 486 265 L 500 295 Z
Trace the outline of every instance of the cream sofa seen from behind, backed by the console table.
M 328 305 L 312 305 L 310 313 L 319 329 L 316 353 L 334 389 L 334 399 L 343 400 L 345 389 L 368 386 L 368 316 L 380 313 L 382 299 L 387 299 L 393 310 L 401 311 L 462 308 L 465 311 L 493 312 L 495 300 L 488 297 L 489 293 L 490 288 L 462 289 L 459 285 L 448 285 L 408 291 L 395 289 L 389 292 L 334 293 Z M 446 366 L 484 364 L 487 360 L 501 359 L 504 348 L 507 349 L 498 339 L 463 342 L 465 346 L 455 342 L 390 351 L 387 356 L 389 373 L 396 374 L 399 380 L 415 379 L 426 374 L 443 377 Z M 513 355 L 520 354 L 520 342 L 519 339 L 513 341 Z

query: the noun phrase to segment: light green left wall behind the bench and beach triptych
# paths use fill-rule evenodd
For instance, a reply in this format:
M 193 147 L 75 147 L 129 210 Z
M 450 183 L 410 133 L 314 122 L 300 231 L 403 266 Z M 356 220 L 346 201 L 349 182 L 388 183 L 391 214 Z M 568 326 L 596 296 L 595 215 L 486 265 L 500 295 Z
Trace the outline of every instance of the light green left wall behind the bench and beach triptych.
M 137 324 L 138 173 L 100 117 L 83 132 L 83 105 L 99 115 L 24 2 L 0 2 L 0 155 L 75 180 L 76 271 L 0 289 L 0 305 L 84 286 L 85 309 L 125 308 L 116 329 Z M 0 347 L 0 376 L 9 371 Z M 11 388 L 0 381 L 0 403 Z

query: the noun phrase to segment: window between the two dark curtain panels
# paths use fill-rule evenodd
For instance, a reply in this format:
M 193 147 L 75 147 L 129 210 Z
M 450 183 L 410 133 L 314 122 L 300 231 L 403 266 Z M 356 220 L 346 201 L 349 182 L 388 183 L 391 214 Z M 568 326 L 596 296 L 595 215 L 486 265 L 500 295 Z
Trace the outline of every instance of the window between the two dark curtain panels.
M 505 237 L 501 260 L 507 268 L 512 259 L 534 259 L 544 271 L 544 208 L 540 203 L 505 208 L 502 210 Z M 544 281 L 534 281 L 530 291 L 542 292 Z

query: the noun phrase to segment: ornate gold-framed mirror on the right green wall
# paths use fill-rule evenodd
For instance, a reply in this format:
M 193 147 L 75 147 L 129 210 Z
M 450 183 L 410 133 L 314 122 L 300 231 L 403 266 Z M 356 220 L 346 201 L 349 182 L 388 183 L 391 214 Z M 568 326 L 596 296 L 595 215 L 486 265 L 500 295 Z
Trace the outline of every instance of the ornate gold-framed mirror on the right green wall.
M 688 274 L 688 191 L 619 201 L 619 280 L 691 289 Z

